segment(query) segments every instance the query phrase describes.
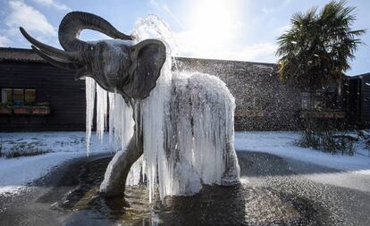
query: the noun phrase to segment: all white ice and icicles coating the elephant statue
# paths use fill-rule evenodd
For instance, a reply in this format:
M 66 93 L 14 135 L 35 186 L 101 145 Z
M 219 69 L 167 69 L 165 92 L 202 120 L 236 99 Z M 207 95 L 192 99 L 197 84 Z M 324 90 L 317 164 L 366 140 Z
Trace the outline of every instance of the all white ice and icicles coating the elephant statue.
M 160 38 L 172 45 L 164 22 L 149 16 L 140 20 L 132 33 L 137 43 Z M 170 50 L 170 46 L 167 47 Z M 136 115 L 142 121 L 144 152 L 126 180 L 135 185 L 146 178 L 149 199 L 168 195 L 193 195 L 203 184 L 230 185 L 239 181 L 239 164 L 233 146 L 234 98 L 222 80 L 198 72 L 173 72 L 167 53 L 156 88 L 142 101 Z M 117 93 L 107 93 L 86 80 L 87 149 L 91 134 L 94 97 L 97 93 L 97 136 L 106 126 L 109 103 L 110 141 L 124 151 L 134 134 L 133 109 Z M 107 171 L 108 172 L 108 171 Z M 145 177 L 144 177 L 145 174 Z

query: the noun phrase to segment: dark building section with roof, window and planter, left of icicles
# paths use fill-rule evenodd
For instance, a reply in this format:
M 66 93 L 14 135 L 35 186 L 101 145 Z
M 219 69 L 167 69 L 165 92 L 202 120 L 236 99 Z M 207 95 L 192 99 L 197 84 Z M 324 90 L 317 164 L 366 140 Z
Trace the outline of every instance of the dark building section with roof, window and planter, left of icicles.
M 85 130 L 85 82 L 30 49 L 0 48 L 0 131 Z

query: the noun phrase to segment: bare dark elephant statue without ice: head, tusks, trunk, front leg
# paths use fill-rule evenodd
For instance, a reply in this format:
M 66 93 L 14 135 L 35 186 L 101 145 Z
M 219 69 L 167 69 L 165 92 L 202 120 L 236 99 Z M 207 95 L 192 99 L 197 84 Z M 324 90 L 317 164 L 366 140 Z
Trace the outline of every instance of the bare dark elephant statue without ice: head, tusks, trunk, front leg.
M 122 95 L 128 105 L 136 105 L 146 99 L 152 89 L 156 88 L 156 82 L 166 60 L 166 46 L 161 40 L 145 39 L 133 44 L 131 36 L 114 29 L 108 21 L 91 13 L 72 12 L 64 16 L 58 31 L 59 42 L 64 50 L 43 44 L 29 36 L 25 29 L 20 29 L 21 34 L 32 44 L 32 49 L 46 62 L 59 68 L 76 71 L 76 79 L 93 78 L 101 88 Z M 79 39 L 82 29 L 94 29 L 122 41 L 85 42 Z M 119 62 L 116 59 L 119 59 Z M 183 103 L 185 105 L 186 100 Z M 140 108 L 133 111 L 132 117 L 137 120 L 134 135 L 126 150 L 117 152 L 108 165 L 109 173 L 105 173 L 105 185 L 100 188 L 100 195 L 103 197 L 123 195 L 130 168 L 143 155 L 142 119 L 135 115 L 139 112 Z M 228 152 L 227 162 L 232 169 L 224 171 L 235 174 L 231 175 L 231 178 L 236 181 L 239 180 L 239 165 L 233 144 L 229 145 L 225 151 Z M 225 177 L 230 177 L 230 173 L 226 174 L 228 173 L 225 173 Z

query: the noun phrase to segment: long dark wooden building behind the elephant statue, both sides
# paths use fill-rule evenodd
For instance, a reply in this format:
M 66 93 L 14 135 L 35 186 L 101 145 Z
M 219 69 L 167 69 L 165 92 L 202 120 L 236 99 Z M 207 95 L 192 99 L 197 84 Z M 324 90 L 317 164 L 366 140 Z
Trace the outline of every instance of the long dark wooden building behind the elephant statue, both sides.
M 179 57 L 172 70 L 200 71 L 223 80 L 235 97 L 235 130 L 298 130 L 309 105 L 324 109 L 318 118 L 368 126 L 366 75 L 307 95 L 283 85 L 273 63 Z M 347 83 L 347 89 L 341 85 Z M 0 48 L 0 90 L 0 131 L 85 130 L 84 80 L 74 80 L 73 72 L 55 68 L 30 49 Z

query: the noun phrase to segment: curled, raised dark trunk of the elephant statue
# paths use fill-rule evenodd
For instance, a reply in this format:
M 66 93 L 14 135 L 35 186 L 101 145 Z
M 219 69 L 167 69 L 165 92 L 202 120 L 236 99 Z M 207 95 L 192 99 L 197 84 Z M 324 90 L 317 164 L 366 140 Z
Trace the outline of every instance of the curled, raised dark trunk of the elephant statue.
M 97 15 L 84 12 L 71 12 L 64 16 L 63 21 L 59 25 L 58 36 L 61 46 L 67 51 L 83 51 L 92 48 L 92 44 L 79 39 L 80 31 L 83 29 L 94 29 L 111 38 L 122 40 L 132 39 Z

